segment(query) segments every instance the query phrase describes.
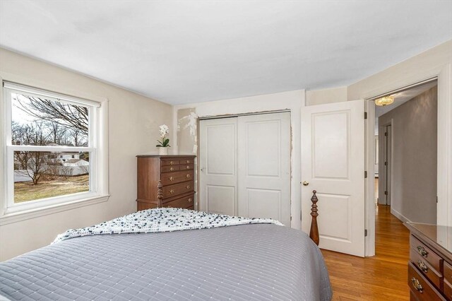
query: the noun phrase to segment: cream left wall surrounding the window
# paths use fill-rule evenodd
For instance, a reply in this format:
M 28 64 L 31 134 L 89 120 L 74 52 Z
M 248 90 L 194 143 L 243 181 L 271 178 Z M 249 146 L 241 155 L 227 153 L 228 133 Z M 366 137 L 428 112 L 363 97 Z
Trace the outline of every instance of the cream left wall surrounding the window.
M 1 225 L 1 261 L 47 245 L 57 234 L 69 228 L 93 225 L 136 211 L 135 156 L 157 153 L 155 140 L 159 137 L 158 126 L 172 124 L 170 105 L 5 49 L 0 49 L 0 76 L 6 81 L 58 93 L 109 100 L 111 195 L 103 203 Z M 2 139 L 0 143 L 3 149 Z M 0 170 L 4 168 L 2 164 L 3 160 L 0 160 Z M 0 187 L 4 187 L 1 177 Z

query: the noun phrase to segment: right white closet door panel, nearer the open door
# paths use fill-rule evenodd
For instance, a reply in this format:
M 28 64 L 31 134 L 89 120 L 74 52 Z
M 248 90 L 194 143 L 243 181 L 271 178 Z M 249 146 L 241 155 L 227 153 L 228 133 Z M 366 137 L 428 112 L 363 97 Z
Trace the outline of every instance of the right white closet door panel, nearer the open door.
M 239 117 L 239 216 L 290 227 L 290 112 Z

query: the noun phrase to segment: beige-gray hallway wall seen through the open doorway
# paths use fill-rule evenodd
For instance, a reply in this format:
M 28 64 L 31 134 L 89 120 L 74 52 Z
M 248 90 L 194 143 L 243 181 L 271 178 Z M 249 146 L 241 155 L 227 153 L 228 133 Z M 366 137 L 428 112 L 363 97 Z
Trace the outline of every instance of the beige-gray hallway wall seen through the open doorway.
M 437 87 L 425 91 L 379 117 L 391 124 L 391 213 L 405 221 L 436 224 L 436 124 Z M 380 168 L 384 170 L 384 146 Z M 386 181 L 382 172 L 379 195 L 384 199 Z

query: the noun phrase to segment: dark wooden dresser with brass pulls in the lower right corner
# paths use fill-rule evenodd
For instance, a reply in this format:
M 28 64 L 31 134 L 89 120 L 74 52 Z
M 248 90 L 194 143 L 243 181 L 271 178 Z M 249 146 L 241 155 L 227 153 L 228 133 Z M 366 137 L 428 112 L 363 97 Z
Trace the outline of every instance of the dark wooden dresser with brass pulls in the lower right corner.
M 410 230 L 410 300 L 452 300 L 452 227 L 405 223 Z

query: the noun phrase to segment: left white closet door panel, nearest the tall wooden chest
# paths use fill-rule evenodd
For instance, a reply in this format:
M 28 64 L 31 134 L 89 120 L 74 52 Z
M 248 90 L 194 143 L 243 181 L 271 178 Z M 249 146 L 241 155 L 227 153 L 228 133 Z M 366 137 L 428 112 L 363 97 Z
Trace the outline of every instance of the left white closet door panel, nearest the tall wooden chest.
M 199 124 L 199 209 L 237 215 L 237 117 Z

